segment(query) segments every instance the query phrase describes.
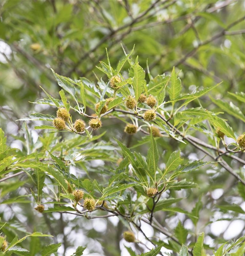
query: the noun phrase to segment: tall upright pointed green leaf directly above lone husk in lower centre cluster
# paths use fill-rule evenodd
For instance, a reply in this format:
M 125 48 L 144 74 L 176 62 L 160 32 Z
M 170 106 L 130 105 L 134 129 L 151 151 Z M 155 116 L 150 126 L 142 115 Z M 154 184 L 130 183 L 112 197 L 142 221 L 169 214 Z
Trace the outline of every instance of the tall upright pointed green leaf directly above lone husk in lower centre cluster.
M 154 181 L 156 182 L 156 171 L 157 171 L 157 165 L 159 161 L 159 153 L 158 153 L 157 144 L 152 135 L 152 132 L 150 134 L 150 147 L 147 153 L 147 161 L 148 161 L 149 173 L 152 179 L 154 179 Z

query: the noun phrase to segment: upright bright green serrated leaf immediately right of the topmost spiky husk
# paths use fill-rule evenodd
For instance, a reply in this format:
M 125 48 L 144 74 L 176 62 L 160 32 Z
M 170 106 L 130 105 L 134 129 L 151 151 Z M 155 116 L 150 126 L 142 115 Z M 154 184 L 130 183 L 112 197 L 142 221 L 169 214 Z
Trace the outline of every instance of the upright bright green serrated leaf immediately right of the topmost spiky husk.
M 135 100 L 138 101 L 142 91 L 144 90 L 145 82 L 145 71 L 139 65 L 137 61 L 133 67 L 134 69 L 134 77 L 133 77 L 133 89 L 135 94 Z

